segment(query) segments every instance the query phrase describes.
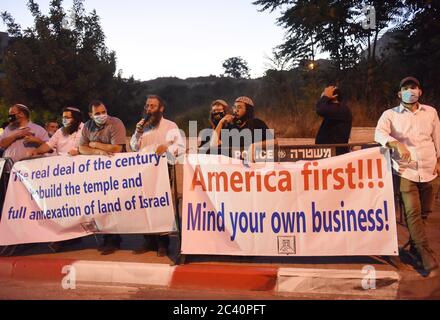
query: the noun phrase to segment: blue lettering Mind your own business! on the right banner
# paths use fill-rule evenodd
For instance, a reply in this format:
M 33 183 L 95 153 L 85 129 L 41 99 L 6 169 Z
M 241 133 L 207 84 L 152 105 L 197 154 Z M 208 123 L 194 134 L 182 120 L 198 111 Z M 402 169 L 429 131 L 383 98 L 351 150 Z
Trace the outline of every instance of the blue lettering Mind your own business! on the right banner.
M 388 202 L 383 202 L 383 208 L 347 210 L 342 201 L 341 209 L 318 210 L 315 202 L 311 204 L 311 215 L 304 211 L 275 211 L 270 216 L 271 231 L 275 234 L 307 233 L 307 218 L 312 221 L 313 233 L 342 233 L 342 232 L 382 232 L 390 230 L 388 220 Z M 207 203 L 188 203 L 186 230 L 200 232 L 225 232 L 225 224 L 231 226 L 230 240 L 235 241 L 238 234 L 264 233 L 266 212 L 229 211 L 225 221 L 225 203 L 220 204 L 220 210 L 208 210 Z M 229 224 L 227 223 L 229 222 Z

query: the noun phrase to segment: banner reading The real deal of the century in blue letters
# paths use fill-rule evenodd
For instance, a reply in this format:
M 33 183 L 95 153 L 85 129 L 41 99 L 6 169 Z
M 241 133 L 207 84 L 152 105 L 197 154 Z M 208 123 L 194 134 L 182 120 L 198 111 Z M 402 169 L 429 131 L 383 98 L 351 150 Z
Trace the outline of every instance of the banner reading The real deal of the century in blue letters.
M 14 165 L 0 245 L 175 228 L 166 158 L 149 153 L 50 157 Z

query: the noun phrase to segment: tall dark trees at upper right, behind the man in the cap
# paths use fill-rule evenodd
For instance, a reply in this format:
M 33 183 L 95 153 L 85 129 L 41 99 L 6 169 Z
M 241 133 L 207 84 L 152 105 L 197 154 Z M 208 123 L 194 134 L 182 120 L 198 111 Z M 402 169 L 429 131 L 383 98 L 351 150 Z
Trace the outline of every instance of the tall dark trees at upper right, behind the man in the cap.
M 374 116 L 396 103 L 396 83 L 409 74 L 422 80 L 425 98 L 439 101 L 440 2 L 433 0 L 256 0 L 260 11 L 281 12 L 286 30 L 274 58 L 293 68 L 327 54 L 333 69 L 304 73 L 306 87 L 338 83 Z M 374 21 L 363 22 L 369 8 Z M 387 35 L 387 39 L 381 39 Z M 379 45 L 380 44 L 380 45 Z M 380 89 L 378 89 L 380 88 Z

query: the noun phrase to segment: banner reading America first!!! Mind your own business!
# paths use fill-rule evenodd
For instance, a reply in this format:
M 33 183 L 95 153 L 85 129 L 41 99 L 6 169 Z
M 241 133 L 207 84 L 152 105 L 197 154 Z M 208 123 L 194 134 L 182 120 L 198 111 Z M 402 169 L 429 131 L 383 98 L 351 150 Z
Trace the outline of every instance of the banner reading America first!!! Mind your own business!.
M 386 149 L 298 163 L 210 155 L 185 163 L 184 254 L 395 256 L 395 216 Z

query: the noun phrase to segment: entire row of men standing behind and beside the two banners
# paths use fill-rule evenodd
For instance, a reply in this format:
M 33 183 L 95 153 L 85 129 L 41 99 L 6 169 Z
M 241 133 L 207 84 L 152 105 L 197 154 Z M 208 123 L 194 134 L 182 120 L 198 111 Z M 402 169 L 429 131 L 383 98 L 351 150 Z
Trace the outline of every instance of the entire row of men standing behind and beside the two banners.
M 438 272 L 438 263 L 428 244 L 424 222 L 432 211 L 435 183 L 440 172 L 440 124 L 436 109 L 419 102 L 421 95 L 419 80 L 414 77 L 403 79 L 398 90 L 401 103 L 382 115 L 375 140 L 392 150 L 394 174 L 398 178 L 396 193 L 400 193 L 405 208 L 411 237 L 410 251 L 430 273 Z M 210 107 L 211 134 L 202 139 L 202 146 L 231 146 L 229 141 L 224 141 L 223 132 L 232 130 L 237 134 L 248 130 L 252 144 L 275 139 L 273 130 L 256 118 L 255 104 L 249 97 L 237 98 L 233 108 L 221 99 L 215 100 Z M 165 102 L 161 97 L 147 97 L 143 117 L 129 143 L 131 151 L 149 149 L 158 155 L 166 153 L 174 157 L 185 153 L 185 142 L 178 126 L 164 118 L 164 111 Z M 44 129 L 30 121 L 31 110 L 27 106 L 13 105 L 9 109 L 9 125 L 0 135 L 3 157 L 17 162 L 42 155 L 111 156 L 126 152 L 123 122 L 110 116 L 102 101 L 92 101 L 88 112 L 90 120 L 83 123 L 83 115 L 77 107 L 66 107 L 62 111 L 62 127 L 54 130 L 56 121 L 47 123 Z M 316 112 L 323 117 L 316 144 L 348 143 L 353 117 L 340 88 L 325 88 Z M 256 134 L 259 130 L 262 135 Z M 346 152 L 347 148 L 339 148 L 337 154 Z M 51 245 L 56 251 L 64 244 Z M 120 244 L 119 235 L 105 235 L 99 250 L 104 255 L 111 254 L 120 248 Z M 155 250 L 159 256 L 165 256 L 168 245 L 166 235 L 147 235 L 144 245 L 136 253 Z

